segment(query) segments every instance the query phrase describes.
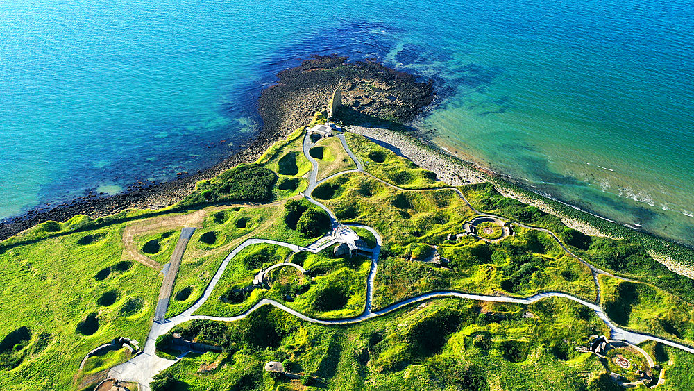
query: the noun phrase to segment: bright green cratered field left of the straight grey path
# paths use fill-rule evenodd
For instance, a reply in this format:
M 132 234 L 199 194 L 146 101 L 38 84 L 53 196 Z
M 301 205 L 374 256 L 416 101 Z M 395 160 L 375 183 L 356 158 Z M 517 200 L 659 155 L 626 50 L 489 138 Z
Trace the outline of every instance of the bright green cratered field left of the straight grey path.
M 0 254 L 0 388 L 68 390 L 85 354 L 123 336 L 144 343 L 158 271 L 121 261 L 124 224 L 71 233 Z M 24 332 L 23 332 L 24 331 Z M 110 357 L 115 364 L 124 357 Z M 103 365 L 92 363 L 90 373 Z M 88 377 L 88 376 L 87 376 Z

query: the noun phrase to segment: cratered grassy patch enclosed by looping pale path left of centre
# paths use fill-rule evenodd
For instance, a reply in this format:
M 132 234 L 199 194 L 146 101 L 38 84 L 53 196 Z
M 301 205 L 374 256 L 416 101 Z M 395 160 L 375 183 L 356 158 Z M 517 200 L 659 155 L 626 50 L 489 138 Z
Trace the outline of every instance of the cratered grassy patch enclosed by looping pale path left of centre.
M 305 276 L 294 267 L 282 267 L 267 277 L 269 289 L 248 289 L 261 267 L 266 269 L 282 263 L 290 253 L 285 247 L 270 244 L 246 247 L 230 260 L 212 292 L 211 297 L 221 299 L 208 300 L 197 313 L 235 316 L 263 298 L 284 302 L 301 313 L 319 318 L 339 319 L 362 313 L 371 261 L 363 257 L 335 257 L 332 248 L 291 257 L 292 263 L 307 269 Z

